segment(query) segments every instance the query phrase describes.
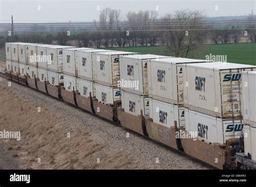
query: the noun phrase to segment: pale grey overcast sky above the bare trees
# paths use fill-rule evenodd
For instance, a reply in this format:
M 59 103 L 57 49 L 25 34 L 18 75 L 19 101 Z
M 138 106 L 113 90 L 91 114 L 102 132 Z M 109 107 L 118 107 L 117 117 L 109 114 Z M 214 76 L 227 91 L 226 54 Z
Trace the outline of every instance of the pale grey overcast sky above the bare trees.
M 243 16 L 252 10 L 255 12 L 255 0 L 0 0 L 0 23 L 9 23 L 11 15 L 14 16 L 16 23 L 92 21 L 98 20 L 100 11 L 97 8 L 103 10 L 107 7 L 120 9 L 123 18 L 128 11 L 156 8 L 159 9 L 160 16 L 178 9 L 203 10 L 209 17 Z

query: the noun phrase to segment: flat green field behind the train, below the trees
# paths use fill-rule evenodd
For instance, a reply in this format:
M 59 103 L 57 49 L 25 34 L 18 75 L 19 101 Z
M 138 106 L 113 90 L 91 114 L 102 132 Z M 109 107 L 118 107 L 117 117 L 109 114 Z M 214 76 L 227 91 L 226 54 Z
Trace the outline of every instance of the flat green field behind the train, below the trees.
M 164 55 L 166 46 L 109 47 L 116 51 L 138 52 L 141 54 Z M 193 59 L 205 59 L 206 55 L 227 55 L 227 62 L 244 63 L 256 66 L 256 43 L 203 45 Z

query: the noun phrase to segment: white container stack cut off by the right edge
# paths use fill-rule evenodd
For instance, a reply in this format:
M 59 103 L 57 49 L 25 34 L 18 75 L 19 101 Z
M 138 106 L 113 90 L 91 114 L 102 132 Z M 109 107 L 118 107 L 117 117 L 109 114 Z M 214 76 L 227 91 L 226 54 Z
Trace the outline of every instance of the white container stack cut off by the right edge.
M 242 71 L 245 154 L 256 161 L 256 71 Z

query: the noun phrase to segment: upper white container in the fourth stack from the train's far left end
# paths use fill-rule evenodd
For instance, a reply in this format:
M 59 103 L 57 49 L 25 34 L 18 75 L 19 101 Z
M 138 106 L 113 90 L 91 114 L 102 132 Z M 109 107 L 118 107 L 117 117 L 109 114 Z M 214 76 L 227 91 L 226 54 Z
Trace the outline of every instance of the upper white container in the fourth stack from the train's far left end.
M 49 46 L 48 44 L 35 44 L 28 46 L 28 59 L 29 59 L 29 66 L 38 67 L 38 62 L 40 59 L 38 58 L 38 46 Z

